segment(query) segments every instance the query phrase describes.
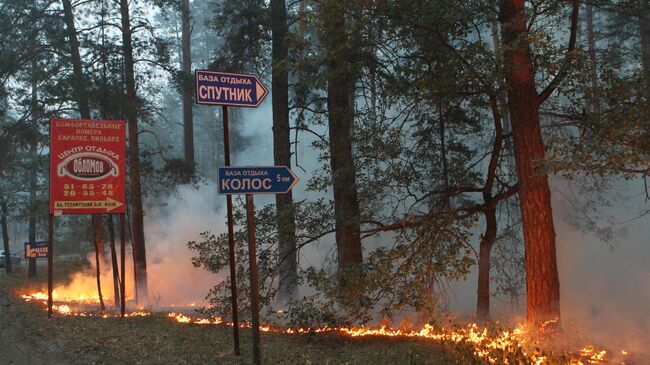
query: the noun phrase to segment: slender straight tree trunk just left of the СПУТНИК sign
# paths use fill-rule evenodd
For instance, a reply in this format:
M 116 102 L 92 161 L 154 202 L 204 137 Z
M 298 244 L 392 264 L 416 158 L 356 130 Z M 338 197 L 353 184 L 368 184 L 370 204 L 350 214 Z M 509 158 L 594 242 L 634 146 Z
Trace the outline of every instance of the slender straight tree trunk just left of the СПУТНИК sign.
M 183 53 L 183 150 L 185 163 L 194 172 L 194 122 L 192 120 L 192 50 L 190 27 L 190 0 L 182 0 L 182 35 L 181 48 Z

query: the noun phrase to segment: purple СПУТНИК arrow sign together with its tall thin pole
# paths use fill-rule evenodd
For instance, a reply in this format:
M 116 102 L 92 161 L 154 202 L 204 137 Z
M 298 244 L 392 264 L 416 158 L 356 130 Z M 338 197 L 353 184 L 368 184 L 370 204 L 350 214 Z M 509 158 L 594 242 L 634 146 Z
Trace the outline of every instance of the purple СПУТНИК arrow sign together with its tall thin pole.
M 256 75 L 233 74 L 208 70 L 195 70 L 196 103 L 221 105 L 223 115 L 224 162 L 230 166 L 230 125 L 228 106 L 256 108 L 269 93 Z M 235 257 L 235 229 L 232 214 L 232 197 L 226 196 L 228 216 L 228 251 L 230 265 L 230 291 L 232 303 L 233 342 L 235 355 L 239 355 L 239 310 L 237 305 L 237 267 Z

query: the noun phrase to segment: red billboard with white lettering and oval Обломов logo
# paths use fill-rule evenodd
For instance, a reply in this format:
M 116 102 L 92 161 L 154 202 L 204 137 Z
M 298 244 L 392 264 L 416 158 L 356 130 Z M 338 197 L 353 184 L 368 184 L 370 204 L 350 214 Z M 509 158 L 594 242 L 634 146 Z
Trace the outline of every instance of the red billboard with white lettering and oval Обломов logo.
M 52 119 L 50 213 L 126 211 L 126 124 Z

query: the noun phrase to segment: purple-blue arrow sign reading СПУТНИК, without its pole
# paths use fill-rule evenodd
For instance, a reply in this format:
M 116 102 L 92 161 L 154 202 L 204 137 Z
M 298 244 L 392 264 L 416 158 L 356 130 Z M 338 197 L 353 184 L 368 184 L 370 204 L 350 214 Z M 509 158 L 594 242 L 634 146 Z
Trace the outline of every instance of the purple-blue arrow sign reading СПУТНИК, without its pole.
M 256 75 L 196 70 L 197 104 L 256 108 L 269 91 Z

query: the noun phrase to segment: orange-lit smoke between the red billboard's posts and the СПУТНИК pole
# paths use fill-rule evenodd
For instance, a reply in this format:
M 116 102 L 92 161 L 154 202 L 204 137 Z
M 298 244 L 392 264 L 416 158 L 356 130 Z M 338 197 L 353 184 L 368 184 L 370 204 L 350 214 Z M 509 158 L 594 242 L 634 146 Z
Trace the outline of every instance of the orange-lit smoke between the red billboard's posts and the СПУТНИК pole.
M 193 267 L 193 252 L 187 248 L 187 243 L 199 239 L 201 232 L 225 230 L 224 214 L 217 209 L 216 200 L 216 186 L 202 185 L 198 190 L 182 186 L 177 194 L 167 199 L 163 208 L 148 211 L 145 234 L 149 298 L 146 302 L 141 300 L 139 304 L 155 309 L 206 303 L 208 290 L 223 278 Z M 97 296 L 94 252 L 88 254 L 87 261 L 91 267 L 73 274 L 68 285 L 55 288 L 56 297 Z M 111 306 L 114 296 L 109 254 L 106 255 L 106 262 L 100 263 L 100 268 L 102 294 L 106 304 Z M 131 302 L 135 296 L 130 247 L 126 257 L 126 292 L 127 300 Z

